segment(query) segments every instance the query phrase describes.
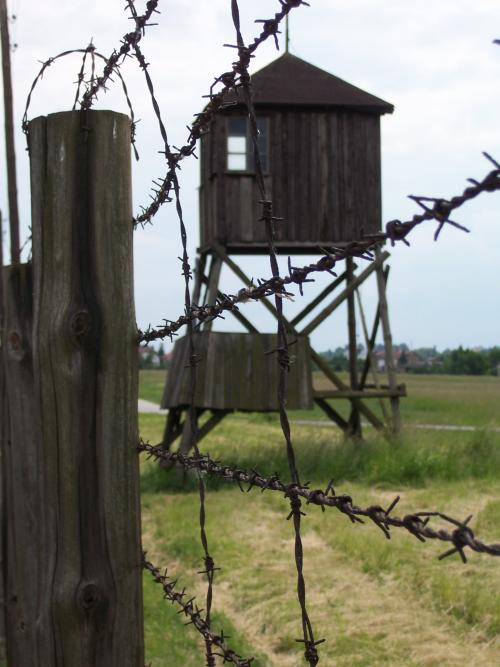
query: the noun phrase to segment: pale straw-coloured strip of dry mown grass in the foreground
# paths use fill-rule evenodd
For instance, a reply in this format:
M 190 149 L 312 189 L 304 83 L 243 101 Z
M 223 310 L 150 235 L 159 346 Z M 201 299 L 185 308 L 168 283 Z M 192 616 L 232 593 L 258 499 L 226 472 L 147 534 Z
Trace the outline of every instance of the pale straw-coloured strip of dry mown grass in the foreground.
M 300 617 L 292 527 L 283 520 L 282 511 L 264 504 L 259 496 L 254 502 L 259 505 L 256 521 L 249 521 L 248 509 L 240 510 L 238 505 L 231 509 L 226 505 L 224 517 L 219 513 L 218 523 L 231 525 L 231 540 L 241 545 L 241 551 L 228 549 L 224 562 L 218 563 L 223 569 L 214 588 L 214 605 L 249 645 L 267 656 L 269 667 L 295 667 L 302 662 L 295 642 L 300 636 Z M 211 515 L 216 506 L 207 510 Z M 499 640 L 487 641 L 479 630 L 436 609 L 429 593 L 419 592 L 394 573 L 367 573 L 361 559 L 337 550 L 311 523 L 306 522 L 304 528 L 311 620 L 316 638 L 327 638 L 320 647 L 322 664 L 500 665 Z M 323 525 L 321 531 L 324 529 Z M 193 593 L 202 600 L 204 584 L 196 570 L 184 564 L 178 574 L 183 583 L 194 586 Z

